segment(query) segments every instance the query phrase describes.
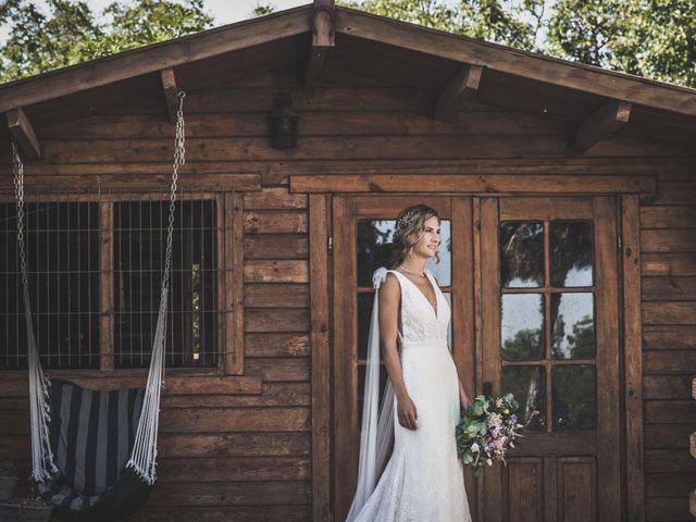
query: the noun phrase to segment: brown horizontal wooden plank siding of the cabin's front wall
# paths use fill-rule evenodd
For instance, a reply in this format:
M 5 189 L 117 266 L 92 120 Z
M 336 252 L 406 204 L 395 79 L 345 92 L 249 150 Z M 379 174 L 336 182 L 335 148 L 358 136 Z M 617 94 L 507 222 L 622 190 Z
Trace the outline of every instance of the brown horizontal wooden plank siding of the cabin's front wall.
M 692 152 L 618 135 L 581 157 L 569 145 L 573 122 L 501 109 L 475 97 L 449 123 L 437 122 L 430 117 L 437 100 L 431 94 L 334 69 L 331 59 L 312 91 L 301 88 L 301 67 L 214 80 L 223 88 L 187 94 L 182 175 L 211 191 L 232 191 L 235 176 L 244 179 L 236 190 L 253 188 L 260 178 L 261 190 L 241 197 L 244 256 L 235 259 L 243 265 L 227 268 L 241 271 L 244 278 L 241 376 L 252 377 L 260 389 L 206 393 L 203 386 L 203 393 L 163 396 L 162 487 L 130 520 L 304 521 L 325 512 L 330 498 L 316 499 L 319 508 L 312 505 L 313 470 L 328 475 L 323 463 L 312 462 L 312 448 L 328 451 L 326 440 L 312 440 L 312 419 L 326 422 L 311 410 L 312 376 L 325 378 L 330 370 L 324 374 L 311 365 L 312 339 L 324 341 L 324 332 L 312 328 L 310 302 L 310 276 L 320 269 L 310 264 L 309 198 L 289 192 L 289 176 L 399 172 L 657 176 L 657 195 L 639 198 L 645 501 L 636 506 L 645 508 L 647 521 L 687 519 L 687 495 L 696 487 L 696 460 L 688 456 L 688 435 L 696 430 Z M 294 150 L 272 149 L 269 142 L 268 114 L 281 89 L 301 115 Z M 99 114 L 75 114 L 54 123 L 37 120 L 41 158 L 26 164 L 27 192 L 166 183 L 173 127 L 161 102 L 136 100 Z M 0 147 L 3 167 L 7 149 Z M 5 172 L 0 191 L 12 188 Z M 475 221 L 480 200 L 472 208 Z M 485 238 L 476 241 L 478 248 Z M 314 248 L 323 248 L 319 244 Z M 321 285 L 330 286 L 336 275 L 322 276 Z M 331 328 L 332 321 L 327 324 Z M 477 341 L 486 325 L 474 326 Z M 314 360 L 328 364 L 331 350 Z M 220 377 L 197 378 L 210 378 L 212 385 Z M 481 382 L 477 386 L 481 393 Z M 25 388 L 2 395 L 0 419 L 0 460 L 15 460 L 20 475 L 28 476 Z M 323 427 L 316 434 L 328 437 Z M 470 499 L 472 508 L 475 500 Z

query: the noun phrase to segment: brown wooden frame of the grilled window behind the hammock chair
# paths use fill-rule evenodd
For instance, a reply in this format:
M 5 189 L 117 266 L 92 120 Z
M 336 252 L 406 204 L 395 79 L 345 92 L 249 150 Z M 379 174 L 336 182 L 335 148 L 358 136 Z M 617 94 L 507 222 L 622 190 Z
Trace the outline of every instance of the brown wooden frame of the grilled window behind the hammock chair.
M 51 370 L 51 375 L 90 378 L 108 373 L 140 376 L 145 369 L 114 368 L 114 237 L 113 206 L 122 201 L 162 201 L 170 195 L 162 190 L 107 194 L 41 194 L 25 196 L 27 202 L 89 202 L 99 204 L 99 369 Z M 227 191 L 181 192 L 178 201 L 215 201 L 216 328 L 217 364 L 215 366 L 167 368 L 174 374 L 244 374 L 244 194 Z M 13 202 L 11 195 L 0 195 L 0 202 Z M 235 270 L 235 268 L 237 268 Z M 24 371 L 9 370 L 3 375 Z

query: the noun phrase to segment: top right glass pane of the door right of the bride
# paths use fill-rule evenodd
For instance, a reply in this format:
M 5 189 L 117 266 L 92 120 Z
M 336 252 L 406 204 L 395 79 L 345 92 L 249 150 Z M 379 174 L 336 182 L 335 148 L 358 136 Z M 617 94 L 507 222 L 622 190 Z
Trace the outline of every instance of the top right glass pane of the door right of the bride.
M 551 285 L 592 286 L 592 223 L 557 221 L 549 232 Z

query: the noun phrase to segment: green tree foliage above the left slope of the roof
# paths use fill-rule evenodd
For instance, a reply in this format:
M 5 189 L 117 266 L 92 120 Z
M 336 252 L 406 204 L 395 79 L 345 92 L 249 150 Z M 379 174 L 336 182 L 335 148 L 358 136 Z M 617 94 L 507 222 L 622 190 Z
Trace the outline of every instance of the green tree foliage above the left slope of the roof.
M 203 0 L 114 2 L 98 20 L 87 2 L 47 0 L 49 14 L 30 0 L 0 3 L 0 82 L 102 58 L 196 33 L 212 25 Z

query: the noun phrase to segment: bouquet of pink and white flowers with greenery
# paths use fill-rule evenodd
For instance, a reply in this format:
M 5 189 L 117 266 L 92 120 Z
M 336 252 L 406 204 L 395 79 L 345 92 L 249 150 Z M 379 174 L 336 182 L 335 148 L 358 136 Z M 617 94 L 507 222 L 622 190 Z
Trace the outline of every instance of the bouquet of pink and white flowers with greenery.
M 478 395 L 473 405 L 462 413 L 457 425 L 457 452 L 465 465 L 478 470 L 483 464 L 505 461 L 508 448 L 515 447 L 523 424 L 518 423 L 518 403 L 512 394 L 502 397 Z

